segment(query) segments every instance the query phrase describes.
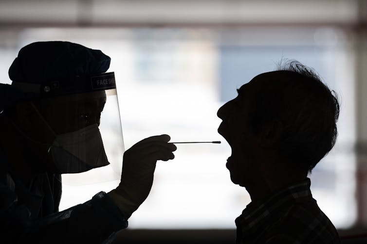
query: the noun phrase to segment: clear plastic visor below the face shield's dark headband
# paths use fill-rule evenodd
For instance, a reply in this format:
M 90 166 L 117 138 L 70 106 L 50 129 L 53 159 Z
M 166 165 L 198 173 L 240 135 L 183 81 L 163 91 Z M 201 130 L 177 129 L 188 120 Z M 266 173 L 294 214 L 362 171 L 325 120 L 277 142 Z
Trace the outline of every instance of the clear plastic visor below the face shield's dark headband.
M 73 186 L 120 180 L 124 142 L 116 89 L 47 99 L 57 107 L 49 106 L 55 112 L 47 119 L 55 130 L 56 146 L 65 147 L 79 159 L 71 160 L 73 163 L 87 164 L 86 172 L 63 174 L 62 183 Z M 65 158 L 65 163 L 71 164 Z

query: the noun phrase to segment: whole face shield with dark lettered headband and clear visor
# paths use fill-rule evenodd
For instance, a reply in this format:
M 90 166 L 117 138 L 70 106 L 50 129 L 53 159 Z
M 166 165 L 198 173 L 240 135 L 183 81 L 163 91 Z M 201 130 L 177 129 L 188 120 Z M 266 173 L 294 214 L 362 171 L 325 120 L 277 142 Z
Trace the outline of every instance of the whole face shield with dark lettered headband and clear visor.
M 12 85 L 39 91 L 37 110 L 55 135 L 48 154 L 56 171 L 64 174 L 63 184 L 121 178 L 124 143 L 113 72 Z

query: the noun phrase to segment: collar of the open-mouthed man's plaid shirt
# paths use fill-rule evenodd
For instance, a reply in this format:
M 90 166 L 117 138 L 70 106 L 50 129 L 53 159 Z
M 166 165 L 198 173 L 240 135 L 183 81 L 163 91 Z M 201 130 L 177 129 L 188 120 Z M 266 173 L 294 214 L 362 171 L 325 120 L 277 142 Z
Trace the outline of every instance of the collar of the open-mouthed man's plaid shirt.
M 265 200 L 259 205 L 253 203 L 248 204 L 242 211 L 242 214 L 236 219 L 236 226 L 242 228 L 242 231 L 248 232 L 266 221 L 270 213 L 277 212 L 289 204 L 311 200 L 310 186 L 311 180 L 307 178 L 276 192 L 268 200 Z

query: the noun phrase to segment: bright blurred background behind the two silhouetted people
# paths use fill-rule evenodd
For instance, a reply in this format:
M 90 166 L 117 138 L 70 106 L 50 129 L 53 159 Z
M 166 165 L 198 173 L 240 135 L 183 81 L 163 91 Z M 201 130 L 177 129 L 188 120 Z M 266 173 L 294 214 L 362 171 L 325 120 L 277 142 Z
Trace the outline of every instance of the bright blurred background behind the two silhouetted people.
M 149 197 L 116 243 L 234 242 L 234 220 L 250 197 L 230 181 L 216 112 L 282 58 L 313 67 L 340 97 L 338 141 L 309 176 L 312 193 L 341 236 L 367 233 L 366 0 L 1 0 L 0 82 L 11 83 L 21 47 L 50 40 L 111 57 L 125 148 L 163 133 L 222 141 L 178 145 L 173 161 L 159 162 Z M 112 134 L 105 145 L 121 146 Z M 63 175 L 60 210 L 116 187 L 118 172 L 103 180 L 107 171 L 98 170 Z

